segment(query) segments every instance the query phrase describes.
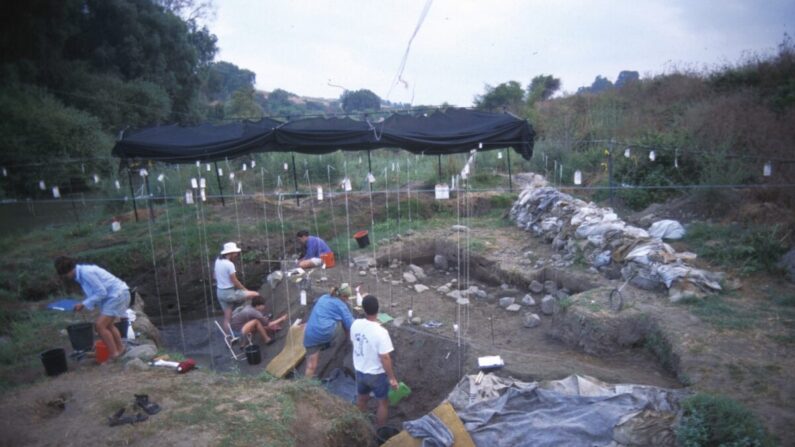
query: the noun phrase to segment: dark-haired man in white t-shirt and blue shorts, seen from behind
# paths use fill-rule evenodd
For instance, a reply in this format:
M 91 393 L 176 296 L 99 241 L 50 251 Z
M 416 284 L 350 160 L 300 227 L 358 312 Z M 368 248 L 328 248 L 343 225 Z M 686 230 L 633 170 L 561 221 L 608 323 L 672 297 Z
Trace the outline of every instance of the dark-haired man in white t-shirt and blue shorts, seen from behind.
M 389 388 L 397 389 L 398 381 L 392 370 L 394 350 L 389 332 L 378 322 L 378 299 L 367 295 L 362 299 L 366 318 L 355 320 L 351 325 L 353 343 L 353 367 L 356 370 L 356 405 L 367 411 L 370 392 L 378 400 L 375 421 L 378 427 L 386 424 L 389 412 L 387 397 Z

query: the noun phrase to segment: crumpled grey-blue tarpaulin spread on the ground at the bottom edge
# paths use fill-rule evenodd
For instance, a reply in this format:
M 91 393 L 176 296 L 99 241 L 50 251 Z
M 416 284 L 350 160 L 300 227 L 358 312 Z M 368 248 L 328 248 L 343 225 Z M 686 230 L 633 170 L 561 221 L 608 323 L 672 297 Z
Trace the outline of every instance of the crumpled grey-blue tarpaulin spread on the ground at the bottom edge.
M 478 446 L 676 445 L 682 391 L 584 376 L 519 382 L 464 377 L 448 396 Z

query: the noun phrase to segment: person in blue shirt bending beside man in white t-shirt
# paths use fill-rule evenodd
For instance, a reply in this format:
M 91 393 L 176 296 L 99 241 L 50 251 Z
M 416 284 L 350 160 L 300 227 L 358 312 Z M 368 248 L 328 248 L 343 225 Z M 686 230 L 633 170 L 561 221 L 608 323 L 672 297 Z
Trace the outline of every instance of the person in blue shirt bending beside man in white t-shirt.
M 306 378 L 315 376 L 320 351 L 328 348 L 334 340 L 337 322 L 345 328 L 345 338 L 353 323 L 353 315 L 346 304 L 351 296 L 351 286 L 343 283 L 318 298 L 304 330 L 304 347 L 306 348 Z

